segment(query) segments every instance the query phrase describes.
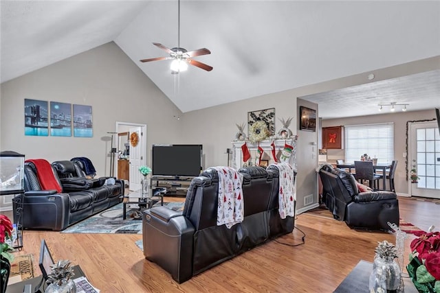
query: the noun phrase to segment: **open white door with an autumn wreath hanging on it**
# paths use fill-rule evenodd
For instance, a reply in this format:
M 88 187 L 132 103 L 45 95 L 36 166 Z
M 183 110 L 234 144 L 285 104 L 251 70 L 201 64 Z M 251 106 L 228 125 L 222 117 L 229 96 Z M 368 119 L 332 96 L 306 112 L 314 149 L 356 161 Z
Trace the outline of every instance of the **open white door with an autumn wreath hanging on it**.
M 142 176 L 139 172 L 139 167 L 142 166 L 144 158 L 142 157 L 142 128 L 140 126 L 130 128 L 130 156 L 129 156 L 129 189 L 131 191 L 141 189 L 140 180 Z M 133 138 L 137 136 L 137 143 L 134 143 Z

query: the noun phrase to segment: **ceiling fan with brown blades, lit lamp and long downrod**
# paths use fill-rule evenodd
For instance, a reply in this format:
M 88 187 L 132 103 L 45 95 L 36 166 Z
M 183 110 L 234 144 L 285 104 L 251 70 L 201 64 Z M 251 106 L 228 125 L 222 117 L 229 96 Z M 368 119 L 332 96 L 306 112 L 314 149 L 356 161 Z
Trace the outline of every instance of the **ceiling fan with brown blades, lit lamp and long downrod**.
M 211 51 L 206 48 L 197 49 L 194 51 L 187 51 L 184 48 L 180 47 L 180 0 L 178 4 L 178 27 L 177 27 L 177 47 L 174 48 L 168 48 L 165 47 L 162 44 L 159 43 L 153 43 L 156 47 L 159 47 L 160 49 L 163 49 L 166 51 L 170 56 L 168 57 L 157 57 L 157 58 L 149 58 L 149 59 L 142 59 L 140 62 L 150 62 L 150 61 L 159 61 L 159 60 L 171 60 L 173 59 L 173 62 L 171 62 L 171 73 L 179 73 L 181 71 L 186 71 L 188 69 L 188 64 L 193 65 L 195 67 L 199 67 L 206 71 L 211 71 L 212 67 L 209 65 L 206 65 L 205 63 L 202 63 L 197 60 L 191 59 L 192 57 L 196 56 L 202 56 L 202 55 L 208 55 L 211 54 Z

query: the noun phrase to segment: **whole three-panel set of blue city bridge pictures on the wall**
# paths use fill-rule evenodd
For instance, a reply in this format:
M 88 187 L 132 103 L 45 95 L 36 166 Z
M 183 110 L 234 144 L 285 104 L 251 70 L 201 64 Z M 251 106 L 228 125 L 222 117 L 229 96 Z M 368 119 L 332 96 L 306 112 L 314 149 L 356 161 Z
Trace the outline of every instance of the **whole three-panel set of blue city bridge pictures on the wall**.
M 25 135 L 93 137 L 91 106 L 25 99 Z M 73 110 L 73 115 L 72 115 Z

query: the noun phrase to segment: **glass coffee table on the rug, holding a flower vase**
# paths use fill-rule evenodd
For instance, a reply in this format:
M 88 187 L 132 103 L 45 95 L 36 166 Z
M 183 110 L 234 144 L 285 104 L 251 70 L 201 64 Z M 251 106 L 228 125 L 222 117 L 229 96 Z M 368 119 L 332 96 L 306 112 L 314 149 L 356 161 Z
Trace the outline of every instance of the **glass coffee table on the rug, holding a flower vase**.
M 164 195 L 166 194 L 165 187 L 155 187 L 151 189 L 149 196 L 142 196 L 140 190 L 129 191 L 129 194 L 122 196 L 122 219 L 126 219 L 127 204 L 137 204 L 139 206 L 139 213 L 143 209 L 151 209 L 154 204 L 160 201 L 160 205 L 164 205 Z

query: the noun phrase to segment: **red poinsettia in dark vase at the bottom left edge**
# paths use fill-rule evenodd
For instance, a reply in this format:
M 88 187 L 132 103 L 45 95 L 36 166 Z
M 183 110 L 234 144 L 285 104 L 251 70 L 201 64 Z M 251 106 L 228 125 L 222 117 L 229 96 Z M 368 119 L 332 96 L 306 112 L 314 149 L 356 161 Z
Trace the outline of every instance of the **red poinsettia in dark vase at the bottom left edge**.
M 10 253 L 12 248 L 6 239 L 12 240 L 12 222 L 5 215 L 0 215 L 0 264 L 1 264 L 1 292 L 6 291 L 8 285 L 9 273 L 11 271 L 11 263 L 14 255 Z

